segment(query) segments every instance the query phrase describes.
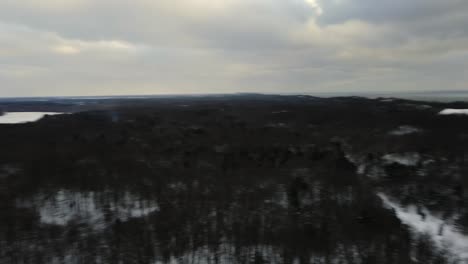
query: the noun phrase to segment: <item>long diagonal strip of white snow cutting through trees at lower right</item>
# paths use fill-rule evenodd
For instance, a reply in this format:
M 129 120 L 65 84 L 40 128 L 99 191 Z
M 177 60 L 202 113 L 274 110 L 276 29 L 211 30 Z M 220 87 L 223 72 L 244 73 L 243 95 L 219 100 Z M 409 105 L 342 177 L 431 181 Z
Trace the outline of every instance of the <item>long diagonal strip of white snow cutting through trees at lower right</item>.
M 451 221 L 441 219 L 426 208 L 420 210 L 425 215 L 422 217 L 416 206 L 403 208 L 383 193 L 379 193 L 378 196 L 384 205 L 395 210 L 396 216 L 415 233 L 429 235 L 438 248 L 447 250 L 461 263 L 468 263 L 468 236 L 457 230 Z

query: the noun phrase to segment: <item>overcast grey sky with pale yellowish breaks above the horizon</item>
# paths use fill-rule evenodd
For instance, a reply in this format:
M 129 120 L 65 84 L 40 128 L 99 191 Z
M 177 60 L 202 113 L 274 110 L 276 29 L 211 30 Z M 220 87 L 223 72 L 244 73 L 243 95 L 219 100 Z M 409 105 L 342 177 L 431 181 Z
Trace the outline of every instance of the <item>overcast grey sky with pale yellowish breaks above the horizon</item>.
M 0 96 L 445 90 L 466 0 L 0 1 Z

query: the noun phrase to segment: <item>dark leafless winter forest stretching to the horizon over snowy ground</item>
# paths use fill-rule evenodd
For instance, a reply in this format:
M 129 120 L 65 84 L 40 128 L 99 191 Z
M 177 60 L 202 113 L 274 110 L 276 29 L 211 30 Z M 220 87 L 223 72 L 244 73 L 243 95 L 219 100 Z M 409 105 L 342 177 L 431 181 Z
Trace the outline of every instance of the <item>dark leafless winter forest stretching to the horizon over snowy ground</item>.
M 444 108 L 468 105 L 2 103 L 73 114 L 0 125 L 0 263 L 456 263 L 377 195 L 468 234 L 468 116 Z

